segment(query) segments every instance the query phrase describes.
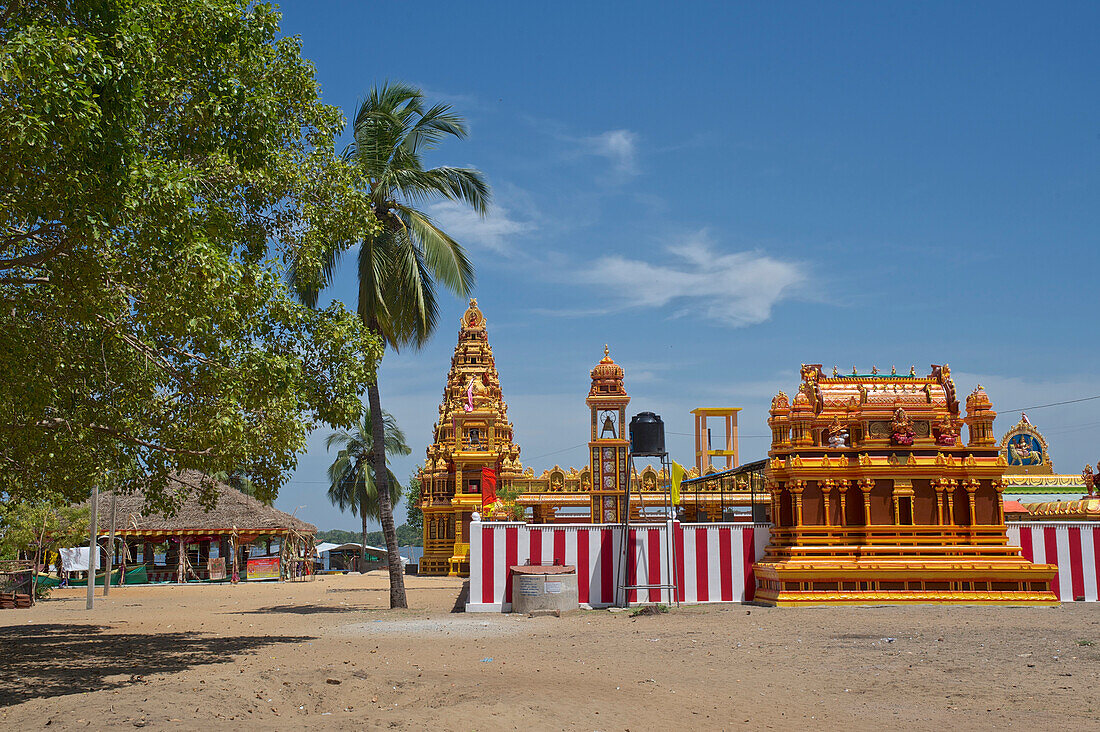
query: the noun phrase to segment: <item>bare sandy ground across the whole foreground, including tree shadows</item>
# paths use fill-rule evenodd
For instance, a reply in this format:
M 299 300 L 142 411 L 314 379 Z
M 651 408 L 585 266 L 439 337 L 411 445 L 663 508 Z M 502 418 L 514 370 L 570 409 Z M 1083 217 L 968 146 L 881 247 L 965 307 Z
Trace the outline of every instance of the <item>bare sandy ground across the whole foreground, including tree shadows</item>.
M 1100 604 L 452 613 L 462 581 L 63 590 L 0 611 L 0 728 L 1097 729 Z

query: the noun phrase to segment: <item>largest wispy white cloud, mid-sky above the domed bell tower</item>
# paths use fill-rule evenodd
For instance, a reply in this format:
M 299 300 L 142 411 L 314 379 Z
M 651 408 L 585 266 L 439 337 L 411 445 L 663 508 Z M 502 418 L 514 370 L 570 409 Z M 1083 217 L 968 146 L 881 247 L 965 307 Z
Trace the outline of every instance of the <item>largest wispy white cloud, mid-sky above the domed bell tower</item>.
M 697 314 L 735 328 L 763 323 L 806 281 L 799 262 L 716 251 L 705 230 L 668 251 L 668 264 L 605 256 L 579 277 L 608 288 L 624 307 L 671 306 L 672 315 Z

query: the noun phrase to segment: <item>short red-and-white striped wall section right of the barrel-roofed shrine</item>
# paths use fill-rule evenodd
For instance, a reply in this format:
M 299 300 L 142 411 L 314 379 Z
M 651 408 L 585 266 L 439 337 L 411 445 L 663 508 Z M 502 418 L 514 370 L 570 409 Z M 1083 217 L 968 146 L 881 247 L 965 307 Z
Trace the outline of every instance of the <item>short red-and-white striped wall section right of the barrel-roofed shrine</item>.
M 1100 525 L 1027 522 L 1009 524 L 1009 544 L 1037 565 L 1058 565 L 1050 589 L 1063 602 L 1097 602 L 1100 587 Z

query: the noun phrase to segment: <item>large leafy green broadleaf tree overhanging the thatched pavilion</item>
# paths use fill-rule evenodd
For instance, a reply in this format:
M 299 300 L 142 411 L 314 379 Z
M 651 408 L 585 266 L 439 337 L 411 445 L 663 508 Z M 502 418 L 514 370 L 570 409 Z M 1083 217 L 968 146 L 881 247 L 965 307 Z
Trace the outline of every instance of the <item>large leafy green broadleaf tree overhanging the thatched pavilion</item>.
M 0 9 L 0 500 L 94 481 L 257 498 L 308 431 L 351 425 L 381 340 L 302 306 L 381 225 L 311 64 L 248 0 Z M 204 485 L 207 502 L 213 482 Z

